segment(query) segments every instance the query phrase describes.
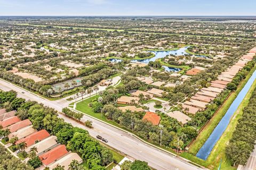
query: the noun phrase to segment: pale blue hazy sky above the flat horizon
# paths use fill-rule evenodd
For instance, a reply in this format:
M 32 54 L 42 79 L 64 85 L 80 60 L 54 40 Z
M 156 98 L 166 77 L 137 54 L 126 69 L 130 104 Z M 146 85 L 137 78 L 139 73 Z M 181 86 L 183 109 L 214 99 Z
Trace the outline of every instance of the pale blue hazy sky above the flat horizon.
M 0 0 L 0 15 L 256 15 L 256 0 Z

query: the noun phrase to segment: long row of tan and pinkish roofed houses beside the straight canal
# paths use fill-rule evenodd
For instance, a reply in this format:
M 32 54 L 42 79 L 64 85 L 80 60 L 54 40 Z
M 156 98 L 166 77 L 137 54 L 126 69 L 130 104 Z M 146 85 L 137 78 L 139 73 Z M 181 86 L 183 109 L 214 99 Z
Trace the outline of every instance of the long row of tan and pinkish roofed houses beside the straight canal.
M 256 48 L 251 49 L 250 52 L 242 56 L 235 65 L 231 66 L 225 72 L 222 72 L 217 80 L 211 81 L 210 87 L 202 88 L 189 100 L 185 101 L 182 108 L 190 114 L 204 110 L 207 105 L 226 88 L 227 84 L 233 80 L 239 70 L 241 70 L 247 62 L 253 60 L 255 54 Z

